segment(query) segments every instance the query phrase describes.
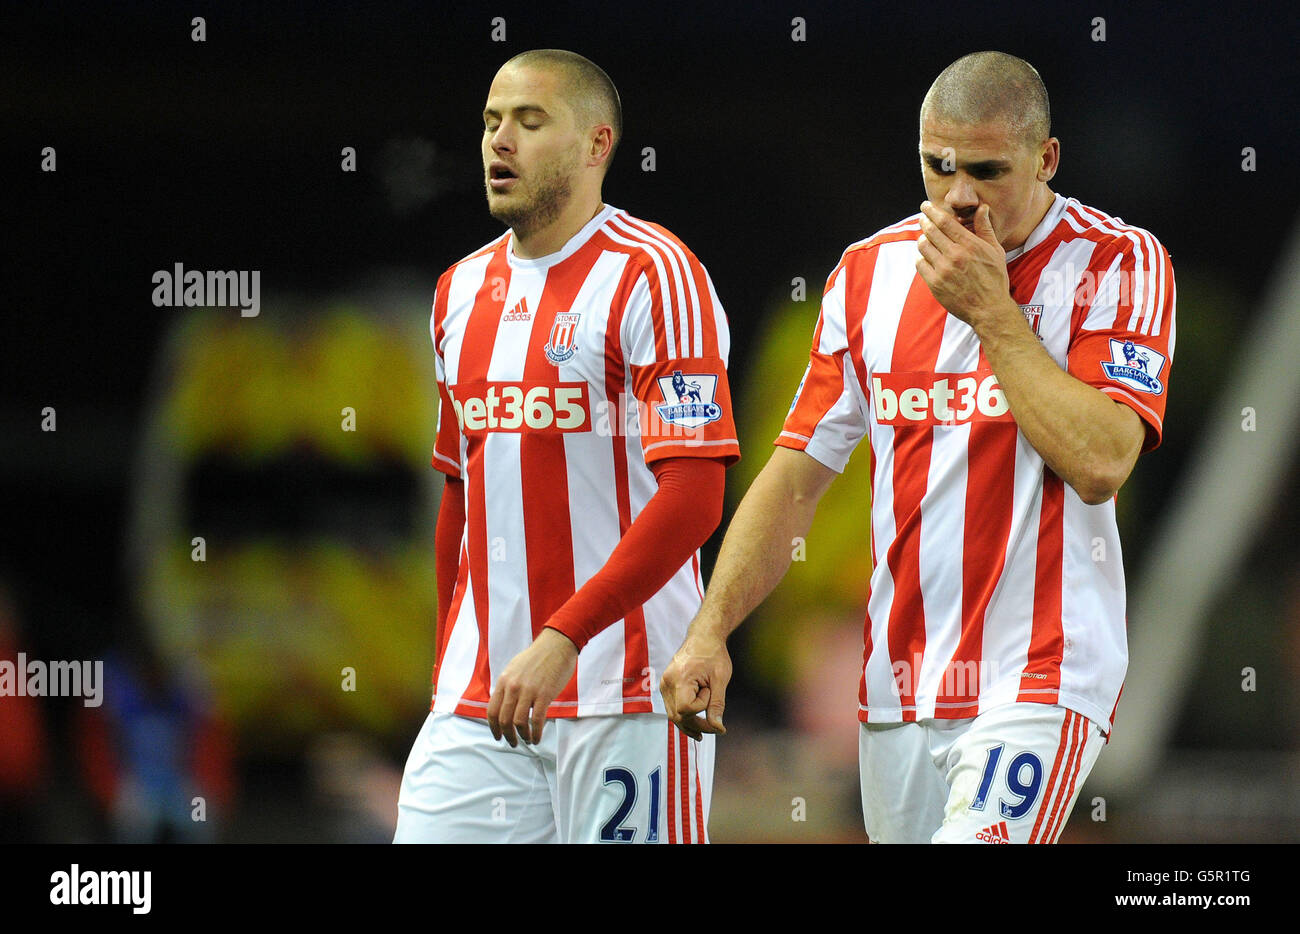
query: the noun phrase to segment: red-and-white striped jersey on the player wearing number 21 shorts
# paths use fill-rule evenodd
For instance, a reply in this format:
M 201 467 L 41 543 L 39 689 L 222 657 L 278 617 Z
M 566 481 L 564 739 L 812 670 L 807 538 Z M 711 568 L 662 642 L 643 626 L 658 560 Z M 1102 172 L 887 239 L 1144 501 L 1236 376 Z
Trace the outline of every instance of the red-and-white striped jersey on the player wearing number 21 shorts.
M 512 243 L 447 269 L 430 321 L 433 466 L 465 496 L 432 709 L 469 717 L 650 501 L 647 464 L 740 457 L 727 317 L 681 241 L 606 206 L 558 252 L 523 259 Z M 697 552 L 582 647 L 547 715 L 662 713 L 659 676 L 701 600 Z

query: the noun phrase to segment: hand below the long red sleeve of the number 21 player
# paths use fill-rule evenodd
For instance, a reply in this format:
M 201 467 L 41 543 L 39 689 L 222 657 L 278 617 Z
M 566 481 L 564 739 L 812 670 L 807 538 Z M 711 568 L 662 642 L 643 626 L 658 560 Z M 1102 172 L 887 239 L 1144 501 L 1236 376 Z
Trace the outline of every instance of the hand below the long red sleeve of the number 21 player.
M 546 726 L 546 708 L 564 689 L 577 667 L 577 647 L 556 630 L 542 630 L 500 673 L 488 702 L 488 726 L 511 747 L 537 744 Z M 517 738 L 516 738 L 517 734 Z

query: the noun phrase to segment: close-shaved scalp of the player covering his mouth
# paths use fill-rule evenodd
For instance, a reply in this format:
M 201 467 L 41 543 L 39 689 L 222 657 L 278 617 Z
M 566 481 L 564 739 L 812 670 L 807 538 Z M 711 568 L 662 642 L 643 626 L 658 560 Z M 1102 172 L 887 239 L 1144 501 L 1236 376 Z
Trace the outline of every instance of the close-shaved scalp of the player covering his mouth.
M 1001 122 L 1028 146 L 1052 135 L 1043 78 L 1006 52 L 972 52 L 940 72 L 920 104 L 920 122 L 927 117 L 966 126 Z

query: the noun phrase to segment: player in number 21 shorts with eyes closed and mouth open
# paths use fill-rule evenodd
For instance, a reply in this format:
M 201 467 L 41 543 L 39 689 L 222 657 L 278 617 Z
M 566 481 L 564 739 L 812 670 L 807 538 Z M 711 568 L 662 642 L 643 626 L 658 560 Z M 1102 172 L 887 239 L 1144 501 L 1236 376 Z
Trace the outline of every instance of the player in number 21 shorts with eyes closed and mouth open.
M 655 687 L 740 457 L 729 334 L 682 242 L 602 202 L 621 134 L 572 52 L 524 52 L 488 92 L 510 230 L 433 302 L 438 637 L 396 842 L 707 839 L 712 748 Z

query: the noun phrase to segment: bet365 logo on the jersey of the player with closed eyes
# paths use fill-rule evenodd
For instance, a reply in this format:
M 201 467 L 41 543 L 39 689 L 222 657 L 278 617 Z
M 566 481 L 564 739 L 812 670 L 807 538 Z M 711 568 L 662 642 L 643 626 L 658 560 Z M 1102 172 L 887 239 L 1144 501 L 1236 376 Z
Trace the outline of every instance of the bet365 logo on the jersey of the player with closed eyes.
M 447 392 L 465 434 L 584 432 L 592 427 L 585 382 L 471 382 Z

